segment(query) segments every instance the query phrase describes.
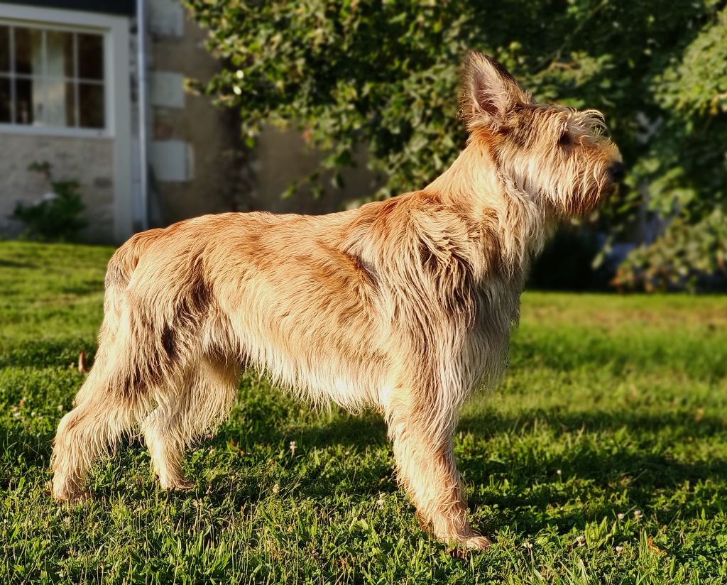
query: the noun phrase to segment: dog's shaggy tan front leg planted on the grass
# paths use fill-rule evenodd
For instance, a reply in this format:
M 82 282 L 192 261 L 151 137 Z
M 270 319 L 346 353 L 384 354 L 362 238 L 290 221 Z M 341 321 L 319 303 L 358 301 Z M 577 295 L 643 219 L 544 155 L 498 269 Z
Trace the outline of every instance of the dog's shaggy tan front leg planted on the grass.
M 490 541 L 470 528 L 467 504 L 452 452 L 456 416 L 400 392 L 387 408 L 398 480 L 419 516 L 444 541 L 486 549 Z

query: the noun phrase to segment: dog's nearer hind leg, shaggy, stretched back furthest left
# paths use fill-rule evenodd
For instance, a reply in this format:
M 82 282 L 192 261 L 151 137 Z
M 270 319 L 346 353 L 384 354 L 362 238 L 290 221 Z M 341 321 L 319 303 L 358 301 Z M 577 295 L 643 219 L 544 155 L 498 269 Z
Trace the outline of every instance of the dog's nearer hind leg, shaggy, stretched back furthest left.
M 91 464 L 148 416 L 158 389 L 179 379 L 188 362 L 188 348 L 174 342 L 159 307 L 128 290 L 112 300 L 92 371 L 76 395 L 76 408 L 58 425 L 51 458 L 58 501 L 81 496 Z

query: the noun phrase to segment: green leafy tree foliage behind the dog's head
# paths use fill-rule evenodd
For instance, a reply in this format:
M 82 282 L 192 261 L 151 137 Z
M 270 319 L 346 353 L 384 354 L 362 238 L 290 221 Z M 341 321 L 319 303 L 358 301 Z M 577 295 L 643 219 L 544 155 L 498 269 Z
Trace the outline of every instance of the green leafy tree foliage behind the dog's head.
M 263 124 L 293 124 L 329 153 L 333 169 L 366 148 L 384 179 L 377 197 L 422 187 L 462 148 L 459 64 L 478 49 L 538 100 L 606 114 L 630 174 L 602 209 L 601 229 L 622 237 L 642 205 L 672 225 L 627 259 L 620 286 L 656 273 L 659 283 L 681 284 L 724 265 L 723 245 L 702 237 L 704 222 L 726 209 L 723 1 L 186 3 L 225 63 L 200 89 L 240 112 L 249 145 Z M 699 262 L 685 248 L 694 239 L 704 243 Z

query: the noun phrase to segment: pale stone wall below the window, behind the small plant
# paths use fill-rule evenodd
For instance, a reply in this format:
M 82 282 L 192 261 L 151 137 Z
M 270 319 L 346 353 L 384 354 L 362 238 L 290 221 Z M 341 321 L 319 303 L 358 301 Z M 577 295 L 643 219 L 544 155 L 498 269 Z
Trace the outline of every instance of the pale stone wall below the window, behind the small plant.
M 50 185 L 28 165 L 49 162 L 57 179 L 78 179 L 88 227 L 84 241 L 113 241 L 113 140 L 111 138 L 47 137 L 28 134 L 0 135 L 0 234 L 17 236 L 23 225 L 9 216 L 15 204 L 35 203 L 49 193 Z

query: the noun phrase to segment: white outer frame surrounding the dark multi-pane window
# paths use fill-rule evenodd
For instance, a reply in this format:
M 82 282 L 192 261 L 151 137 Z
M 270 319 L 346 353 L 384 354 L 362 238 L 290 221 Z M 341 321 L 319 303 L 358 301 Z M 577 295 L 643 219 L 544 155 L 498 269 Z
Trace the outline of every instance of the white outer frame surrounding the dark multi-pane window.
M 115 62 L 116 37 L 119 35 L 119 21 L 124 17 L 97 15 L 78 10 L 57 10 L 39 7 L 19 6 L 17 4 L 0 4 L 0 25 L 12 27 L 35 28 L 45 31 L 65 31 L 73 33 L 92 33 L 103 36 L 103 88 L 104 88 L 104 123 L 105 128 L 76 128 L 74 126 L 51 126 L 44 124 L 1 123 L 0 133 L 33 134 L 36 136 L 68 136 L 108 138 L 116 135 L 118 120 L 114 116 L 116 109 L 116 68 Z M 116 34 L 115 34 L 116 33 Z M 128 50 L 128 49 L 127 49 Z M 125 64 L 128 70 L 128 62 Z M 124 73 L 122 73 L 124 74 Z M 74 80 L 77 81 L 77 80 Z M 78 104 L 76 104 L 76 108 Z

